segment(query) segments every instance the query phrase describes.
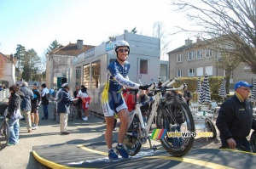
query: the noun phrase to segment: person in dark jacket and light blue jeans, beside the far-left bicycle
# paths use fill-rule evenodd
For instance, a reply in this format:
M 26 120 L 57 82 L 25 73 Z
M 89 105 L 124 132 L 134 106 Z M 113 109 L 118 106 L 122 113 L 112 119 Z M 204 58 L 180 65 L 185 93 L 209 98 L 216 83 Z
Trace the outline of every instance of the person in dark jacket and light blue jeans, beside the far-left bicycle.
M 9 97 L 8 104 L 8 115 L 9 118 L 9 143 L 10 145 L 15 145 L 19 143 L 19 130 L 20 130 L 20 97 L 17 94 L 19 88 L 15 85 L 9 87 L 9 93 L 11 94 Z

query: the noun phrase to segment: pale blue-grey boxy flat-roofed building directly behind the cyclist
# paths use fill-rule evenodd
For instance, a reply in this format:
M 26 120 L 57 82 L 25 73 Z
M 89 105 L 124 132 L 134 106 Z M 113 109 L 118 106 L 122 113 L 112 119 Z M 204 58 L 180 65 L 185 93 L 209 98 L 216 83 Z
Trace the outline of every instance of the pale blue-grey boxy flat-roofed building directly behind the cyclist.
M 83 54 L 73 58 L 71 76 L 77 84 L 83 84 L 92 98 L 90 110 L 102 113 L 100 94 L 106 82 L 106 70 L 110 62 L 116 59 L 113 45 L 116 41 L 129 42 L 131 53 L 127 61 L 131 63 L 129 79 L 132 82 L 149 84 L 157 82 L 159 76 L 167 78 L 167 66 L 160 75 L 160 39 L 142 35 L 125 33 L 90 48 Z M 165 62 L 163 62 L 164 64 Z M 165 73 L 166 72 L 166 73 Z M 166 75 L 165 75 L 166 74 Z

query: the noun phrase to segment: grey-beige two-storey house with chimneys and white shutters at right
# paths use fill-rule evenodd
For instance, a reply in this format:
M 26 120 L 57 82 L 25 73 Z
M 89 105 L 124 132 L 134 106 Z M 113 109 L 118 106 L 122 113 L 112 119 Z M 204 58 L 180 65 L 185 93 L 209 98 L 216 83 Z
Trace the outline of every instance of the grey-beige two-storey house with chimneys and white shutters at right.
M 197 38 L 196 42 L 185 40 L 185 44 L 167 54 L 169 55 L 170 77 L 194 77 L 194 76 L 225 76 L 225 70 L 219 69 L 214 59 L 221 57 L 218 52 L 212 51 L 201 45 L 202 41 Z M 255 75 L 249 72 L 247 65 L 241 64 L 232 71 L 230 87 L 237 81 L 253 83 Z

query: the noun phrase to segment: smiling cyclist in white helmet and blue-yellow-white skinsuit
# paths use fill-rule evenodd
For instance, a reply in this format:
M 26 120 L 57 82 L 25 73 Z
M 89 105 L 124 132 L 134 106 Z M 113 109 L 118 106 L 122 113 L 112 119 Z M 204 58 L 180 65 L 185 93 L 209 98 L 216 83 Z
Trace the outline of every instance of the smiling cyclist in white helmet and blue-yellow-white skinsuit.
M 146 90 L 149 85 L 140 86 L 137 83 L 131 82 L 128 78 L 130 63 L 126 61 L 130 54 L 130 45 L 128 42 L 121 40 L 114 44 L 114 52 L 117 56 L 112 63 L 108 65 L 107 82 L 102 92 L 102 109 L 106 120 L 105 139 L 108 146 L 108 158 L 110 160 L 118 159 L 118 155 L 113 152 L 113 127 L 114 127 L 114 112 L 116 110 L 120 120 L 119 138 L 116 150 L 119 154 L 128 158 L 129 155 L 124 149 L 123 141 L 129 124 L 129 113 L 127 105 L 122 97 L 123 87 Z

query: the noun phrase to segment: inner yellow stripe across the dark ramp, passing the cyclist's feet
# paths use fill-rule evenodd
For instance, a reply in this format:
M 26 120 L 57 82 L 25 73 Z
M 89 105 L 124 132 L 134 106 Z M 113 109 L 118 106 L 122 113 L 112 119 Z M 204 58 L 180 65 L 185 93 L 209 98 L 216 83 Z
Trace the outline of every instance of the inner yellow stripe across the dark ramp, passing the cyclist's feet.
M 92 153 L 96 153 L 99 155 L 108 155 L 108 153 L 103 152 L 103 151 L 98 151 L 95 149 L 89 149 L 87 147 L 84 147 L 84 145 L 79 144 L 77 145 L 80 149 L 84 149 L 86 151 L 92 152 Z M 172 160 L 172 161 L 182 161 L 182 162 L 186 162 L 186 163 L 190 163 L 190 164 L 194 164 L 197 166 L 206 166 L 209 168 L 218 168 L 218 169 L 231 169 L 232 167 L 229 166 L 223 166 L 223 165 L 219 165 L 213 162 L 208 162 L 208 161 L 200 161 L 200 160 L 196 160 L 196 159 L 189 159 L 189 158 L 182 158 L 182 157 L 169 157 L 169 156 L 143 156 L 142 158 L 148 158 L 148 159 L 162 159 L 162 160 Z

